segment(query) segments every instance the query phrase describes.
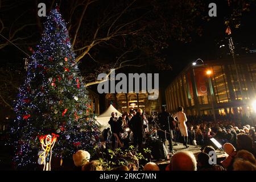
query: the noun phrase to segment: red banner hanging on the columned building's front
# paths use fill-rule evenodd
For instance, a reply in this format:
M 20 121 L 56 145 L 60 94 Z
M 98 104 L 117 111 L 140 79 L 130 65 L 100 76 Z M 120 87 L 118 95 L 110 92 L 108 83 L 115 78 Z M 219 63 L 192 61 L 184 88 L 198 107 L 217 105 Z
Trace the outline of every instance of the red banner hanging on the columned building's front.
M 207 94 L 207 75 L 205 73 L 205 68 L 195 68 L 194 72 L 197 96 L 204 96 Z

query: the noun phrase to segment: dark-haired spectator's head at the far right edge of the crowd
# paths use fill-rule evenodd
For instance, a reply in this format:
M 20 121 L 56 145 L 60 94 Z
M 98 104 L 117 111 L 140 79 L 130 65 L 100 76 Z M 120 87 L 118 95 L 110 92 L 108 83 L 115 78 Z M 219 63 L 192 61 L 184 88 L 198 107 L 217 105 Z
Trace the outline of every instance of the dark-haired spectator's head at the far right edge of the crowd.
M 238 134 L 237 135 L 237 150 L 247 150 L 251 152 L 251 154 L 256 156 L 256 152 L 253 148 L 253 140 L 246 134 Z

